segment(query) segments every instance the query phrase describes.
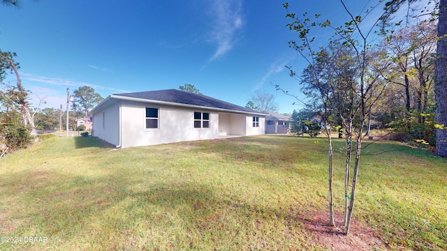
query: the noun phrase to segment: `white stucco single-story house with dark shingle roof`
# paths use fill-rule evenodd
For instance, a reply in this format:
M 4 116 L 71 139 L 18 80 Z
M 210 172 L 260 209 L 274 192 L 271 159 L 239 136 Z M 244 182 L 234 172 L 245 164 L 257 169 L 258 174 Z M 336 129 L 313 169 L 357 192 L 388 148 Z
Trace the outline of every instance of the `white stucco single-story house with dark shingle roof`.
M 117 148 L 262 135 L 261 112 L 175 89 L 113 94 L 91 110 L 92 134 Z

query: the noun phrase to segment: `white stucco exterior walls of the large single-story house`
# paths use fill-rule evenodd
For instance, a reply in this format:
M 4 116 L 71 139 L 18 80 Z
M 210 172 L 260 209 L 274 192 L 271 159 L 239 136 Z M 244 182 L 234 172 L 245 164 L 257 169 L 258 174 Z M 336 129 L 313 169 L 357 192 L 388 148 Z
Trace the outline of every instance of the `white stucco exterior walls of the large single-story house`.
M 146 107 L 159 109 L 159 128 L 146 128 Z M 194 112 L 209 112 L 210 128 L 194 128 Z M 256 128 L 253 127 L 252 115 L 126 100 L 112 102 L 112 105 L 95 112 L 93 125 L 94 136 L 121 148 L 217 139 L 223 135 L 247 136 L 265 133 L 264 117 L 259 117 L 259 127 Z

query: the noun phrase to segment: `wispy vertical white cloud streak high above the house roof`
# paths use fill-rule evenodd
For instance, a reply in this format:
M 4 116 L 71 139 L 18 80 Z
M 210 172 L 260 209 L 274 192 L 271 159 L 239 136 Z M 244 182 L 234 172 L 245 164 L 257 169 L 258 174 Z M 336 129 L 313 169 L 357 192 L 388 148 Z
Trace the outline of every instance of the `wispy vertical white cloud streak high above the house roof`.
M 233 48 L 237 31 L 244 26 L 241 0 L 215 0 L 212 3 L 211 16 L 215 21 L 210 32 L 210 42 L 217 44 L 210 61 L 217 59 Z

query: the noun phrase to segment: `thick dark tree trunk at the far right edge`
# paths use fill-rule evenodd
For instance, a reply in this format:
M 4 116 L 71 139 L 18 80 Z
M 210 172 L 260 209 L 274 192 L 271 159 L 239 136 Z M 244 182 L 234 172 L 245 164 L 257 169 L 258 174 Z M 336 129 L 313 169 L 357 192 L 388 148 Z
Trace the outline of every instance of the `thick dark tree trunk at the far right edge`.
M 436 60 L 436 123 L 447 126 L 447 0 L 439 1 Z M 447 157 L 447 130 L 437 129 L 436 154 Z

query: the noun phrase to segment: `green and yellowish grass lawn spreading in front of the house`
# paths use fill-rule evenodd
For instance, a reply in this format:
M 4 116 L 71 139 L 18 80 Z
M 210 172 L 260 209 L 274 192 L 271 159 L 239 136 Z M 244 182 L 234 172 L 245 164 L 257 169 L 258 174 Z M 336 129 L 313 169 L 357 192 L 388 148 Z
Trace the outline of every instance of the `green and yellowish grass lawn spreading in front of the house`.
M 325 250 L 300 220 L 327 204 L 327 150 L 314 141 L 263 135 L 111 151 L 96 138 L 45 139 L 0 160 L 0 236 L 22 237 L 0 250 Z M 386 249 L 447 249 L 446 160 L 396 142 L 363 153 L 358 224 Z M 342 213 L 344 155 L 335 158 Z

